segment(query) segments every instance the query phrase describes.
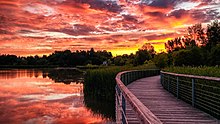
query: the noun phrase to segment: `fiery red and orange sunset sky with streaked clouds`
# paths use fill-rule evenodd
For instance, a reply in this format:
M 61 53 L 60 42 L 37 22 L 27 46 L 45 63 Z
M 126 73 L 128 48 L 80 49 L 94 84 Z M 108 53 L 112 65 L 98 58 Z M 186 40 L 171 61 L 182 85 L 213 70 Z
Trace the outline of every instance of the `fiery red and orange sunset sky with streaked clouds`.
M 220 19 L 220 0 L 0 0 L 0 54 L 62 50 L 157 52 L 196 23 Z

